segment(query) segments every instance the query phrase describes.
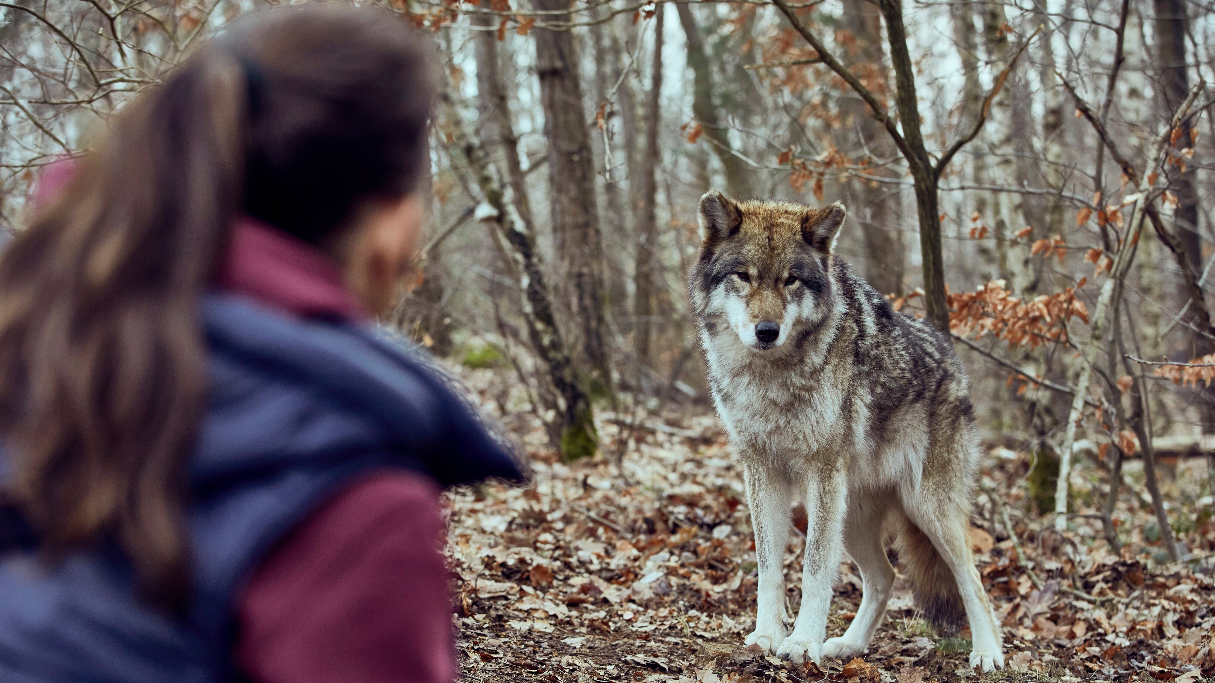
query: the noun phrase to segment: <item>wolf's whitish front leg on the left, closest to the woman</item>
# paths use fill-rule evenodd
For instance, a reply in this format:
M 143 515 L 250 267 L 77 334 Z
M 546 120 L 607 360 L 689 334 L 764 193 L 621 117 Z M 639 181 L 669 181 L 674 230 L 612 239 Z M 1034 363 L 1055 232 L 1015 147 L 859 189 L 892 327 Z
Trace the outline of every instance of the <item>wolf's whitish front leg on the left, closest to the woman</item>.
M 751 507 L 751 526 L 756 534 L 756 564 L 759 565 L 759 589 L 756 602 L 756 630 L 747 645 L 759 645 L 775 653 L 785 639 L 785 543 L 789 542 L 789 485 L 764 468 L 744 465 L 742 478 Z

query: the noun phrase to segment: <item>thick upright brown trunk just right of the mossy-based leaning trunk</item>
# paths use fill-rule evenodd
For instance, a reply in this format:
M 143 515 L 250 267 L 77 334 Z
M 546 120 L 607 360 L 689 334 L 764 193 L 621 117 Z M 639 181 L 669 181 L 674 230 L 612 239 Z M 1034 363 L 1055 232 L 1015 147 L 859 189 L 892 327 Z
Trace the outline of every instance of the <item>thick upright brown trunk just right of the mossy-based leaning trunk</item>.
M 535 0 L 537 10 L 558 11 L 549 21 L 570 21 L 570 0 Z M 573 311 L 582 337 L 582 366 L 589 385 L 610 394 L 611 371 L 605 344 L 604 254 L 595 201 L 590 126 L 582 107 L 582 83 L 573 33 L 537 28 L 536 74 L 539 77 L 548 140 L 550 218 L 556 253 L 571 282 Z

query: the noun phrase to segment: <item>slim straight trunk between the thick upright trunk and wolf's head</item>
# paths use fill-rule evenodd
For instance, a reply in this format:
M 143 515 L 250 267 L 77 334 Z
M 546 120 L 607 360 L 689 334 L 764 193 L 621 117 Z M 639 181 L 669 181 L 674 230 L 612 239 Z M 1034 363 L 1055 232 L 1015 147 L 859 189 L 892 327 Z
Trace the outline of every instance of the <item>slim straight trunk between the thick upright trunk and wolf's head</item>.
M 645 97 L 645 118 L 649 119 L 650 124 L 645 129 L 645 157 L 642 159 L 642 173 L 638 179 L 640 193 L 633 202 L 637 209 L 637 244 L 634 245 L 637 249 L 634 261 L 637 290 L 633 295 L 637 333 L 633 342 L 637 360 L 649 366 L 652 366 L 650 340 L 654 332 L 654 304 L 660 281 L 657 267 L 659 219 L 655 209 L 659 199 L 659 128 L 662 114 L 659 107 L 662 94 L 662 16 L 665 15 L 662 10 L 663 5 L 657 5 L 655 9 L 654 75 Z

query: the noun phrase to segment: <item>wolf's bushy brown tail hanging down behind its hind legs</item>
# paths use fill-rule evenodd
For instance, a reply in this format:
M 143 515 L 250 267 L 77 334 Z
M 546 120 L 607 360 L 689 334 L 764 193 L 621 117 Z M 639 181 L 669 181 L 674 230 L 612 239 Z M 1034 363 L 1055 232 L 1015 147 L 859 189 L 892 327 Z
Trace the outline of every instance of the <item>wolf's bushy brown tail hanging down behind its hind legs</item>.
M 966 626 L 966 608 L 957 581 L 923 531 L 903 518 L 895 547 L 899 570 L 911 583 L 911 595 L 928 623 L 942 636 L 953 636 Z

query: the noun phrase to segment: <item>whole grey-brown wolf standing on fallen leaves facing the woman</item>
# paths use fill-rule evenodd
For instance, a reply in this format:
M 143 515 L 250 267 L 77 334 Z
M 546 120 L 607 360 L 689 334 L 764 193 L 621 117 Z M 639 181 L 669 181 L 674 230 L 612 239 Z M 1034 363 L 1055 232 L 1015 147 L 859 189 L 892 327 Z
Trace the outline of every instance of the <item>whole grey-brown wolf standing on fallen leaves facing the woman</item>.
M 717 410 L 746 480 L 759 565 L 747 644 L 802 662 L 865 650 L 894 581 L 885 529 L 925 615 L 970 622 L 972 666 L 1004 666 L 1000 630 L 971 557 L 979 450 L 966 371 L 931 323 L 894 312 L 833 254 L 840 204 L 700 202 L 689 290 Z M 761 324 L 763 323 L 763 324 Z M 802 604 L 785 631 L 781 558 L 795 496 L 808 530 Z M 843 549 L 864 594 L 824 643 Z

